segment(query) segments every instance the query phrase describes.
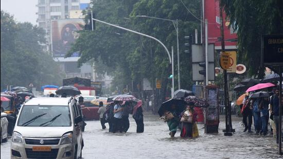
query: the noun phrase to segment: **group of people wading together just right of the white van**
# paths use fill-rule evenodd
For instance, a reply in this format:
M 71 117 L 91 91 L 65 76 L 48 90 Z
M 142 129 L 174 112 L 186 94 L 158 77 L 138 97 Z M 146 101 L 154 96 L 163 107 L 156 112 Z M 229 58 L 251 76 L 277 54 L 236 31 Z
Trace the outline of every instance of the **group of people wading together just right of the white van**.
M 132 101 L 114 101 L 107 107 L 103 102 L 99 102 L 99 118 L 102 129 L 105 129 L 105 123 L 109 123 L 109 132 L 127 132 L 130 127 L 129 114 L 135 119 L 137 133 L 144 132 L 144 115 L 141 101 L 133 105 Z

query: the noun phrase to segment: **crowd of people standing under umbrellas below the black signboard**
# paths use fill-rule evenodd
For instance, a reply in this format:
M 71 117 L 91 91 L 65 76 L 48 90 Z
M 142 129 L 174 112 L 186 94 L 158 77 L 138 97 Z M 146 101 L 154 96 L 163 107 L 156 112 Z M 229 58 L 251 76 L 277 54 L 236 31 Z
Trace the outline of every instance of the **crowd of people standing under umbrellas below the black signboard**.
M 244 132 L 251 130 L 254 120 L 254 128 L 256 135 L 268 134 L 268 123 L 270 123 L 271 134 L 276 136 L 276 143 L 279 142 L 279 89 L 273 90 L 270 97 L 250 98 L 252 92 L 246 93 L 241 105 L 241 113 L 243 115 Z M 276 135 L 275 135 L 276 134 Z

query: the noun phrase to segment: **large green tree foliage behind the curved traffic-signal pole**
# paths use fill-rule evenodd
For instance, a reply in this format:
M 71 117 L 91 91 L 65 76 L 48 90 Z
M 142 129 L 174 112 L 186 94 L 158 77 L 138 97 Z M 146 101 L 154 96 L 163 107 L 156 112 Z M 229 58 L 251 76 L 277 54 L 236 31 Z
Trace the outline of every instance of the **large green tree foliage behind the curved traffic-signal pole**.
M 153 36 L 162 41 L 168 50 L 171 50 L 171 46 L 173 46 L 175 75 L 177 74 L 177 46 L 174 25 L 170 21 L 146 19 L 136 17 L 136 15 L 161 17 L 170 20 L 178 19 L 181 87 L 191 90 L 190 55 L 184 53 L 186 49 L 184 36 L 193 34 L 194 29 L 200 28 L 200 23 L 180 1 L 96 0 L 92 1 L 92 4 L 96 19 Z M 199 1 L 193 0 L 185 4 L 191 9 L 191 12 L 200 17 Z M 69 57 L 72 52 L 79 51 L 81 54 L 79 66 L 91 59 L 94 61 L 101 59 L 104 64 L 112 68 L 113 84 L 119 90 L 128 85 L 131 91 L 138 91 L 140 89 L 138 85 L 141 84 L 143 78 L 152 81 L 153 87 L 155 86 L 155 78 L 161 79 L 162 92 L 169 90 L 168 77 L 171 75 L 169 58 L 163 46 L 156 41 L 99 22 L 96 22 L 95 31 L 83 30 L 80 33 L 80 38 L 66 56 Z M 177 77 L 175 76 L 175 81 L 178 81 Z M 175 85 L 175 89 L 177 89 L 178 83 L 175 82 Z

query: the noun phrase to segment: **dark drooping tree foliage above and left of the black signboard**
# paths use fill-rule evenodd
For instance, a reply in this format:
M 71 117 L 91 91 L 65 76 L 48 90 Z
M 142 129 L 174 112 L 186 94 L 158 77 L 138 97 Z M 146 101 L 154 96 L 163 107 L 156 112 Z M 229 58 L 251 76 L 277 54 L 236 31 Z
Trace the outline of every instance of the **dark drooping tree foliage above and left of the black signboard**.
M 221 0 L 221 5 L 235 24 L 240 60 L 250 75 L 263 76 L 260 68 L 260 38 L 263 34 L 283 33 L 283 1 Z

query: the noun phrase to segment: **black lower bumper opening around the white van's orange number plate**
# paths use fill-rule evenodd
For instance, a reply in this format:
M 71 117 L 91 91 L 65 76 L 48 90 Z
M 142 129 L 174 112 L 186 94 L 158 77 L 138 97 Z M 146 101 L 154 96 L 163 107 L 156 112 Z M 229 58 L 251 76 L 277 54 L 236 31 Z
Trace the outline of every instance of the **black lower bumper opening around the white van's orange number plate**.
M 28 158 L 56 158 L 59 149 L 51 149 L 51 151 L 32 151 L 32 149 L 26 148 L 26 154 Z

